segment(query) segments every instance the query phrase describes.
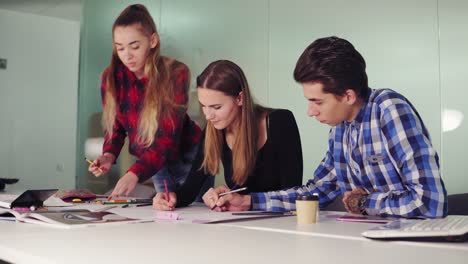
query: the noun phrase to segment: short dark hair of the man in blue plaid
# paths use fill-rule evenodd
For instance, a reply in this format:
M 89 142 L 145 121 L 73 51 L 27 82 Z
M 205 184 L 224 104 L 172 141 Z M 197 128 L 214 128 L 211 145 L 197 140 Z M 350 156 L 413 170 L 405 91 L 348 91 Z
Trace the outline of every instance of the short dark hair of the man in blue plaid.
M 294 69 L 299 83 L 320 82 L 323 91 L 343 95 L 352 89 L 360 98 L 368 94 L 366 62 L 353 44 L 335 36 L 312 42 L 302 53 Z

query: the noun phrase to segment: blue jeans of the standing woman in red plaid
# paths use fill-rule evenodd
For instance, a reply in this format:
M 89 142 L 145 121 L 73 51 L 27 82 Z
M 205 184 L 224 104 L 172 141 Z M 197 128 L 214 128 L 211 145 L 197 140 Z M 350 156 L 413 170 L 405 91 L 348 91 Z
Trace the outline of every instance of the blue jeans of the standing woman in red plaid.
M 192 169 L 192 163 L 198 152 L 198 144 L 193 146 L 187 152 L 182 154 L 181 159 L 170 161 L 153 175 L 152 180 L 156 192 L 165 192 L 164 180 L 167 182 L 167 189 L 169 192 L 175 192 L 178 186 L 184 184 L 188 174 Z M 203 187 L 200 189 L 200 193 L 197 196 L 196 201 L 202 201 L 201 197 L 205 192 L 213 187 L 214 177 L 207 177 L 203 183 Z

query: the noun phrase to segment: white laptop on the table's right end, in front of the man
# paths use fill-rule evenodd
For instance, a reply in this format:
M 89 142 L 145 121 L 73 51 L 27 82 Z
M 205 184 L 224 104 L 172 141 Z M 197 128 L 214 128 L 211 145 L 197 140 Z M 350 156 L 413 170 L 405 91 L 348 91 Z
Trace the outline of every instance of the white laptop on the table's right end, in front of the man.
M 468 216 L 449 215 L 438 219 L 399 219 L 362 233 L 380 240 L 459 242 L 468 239 Z

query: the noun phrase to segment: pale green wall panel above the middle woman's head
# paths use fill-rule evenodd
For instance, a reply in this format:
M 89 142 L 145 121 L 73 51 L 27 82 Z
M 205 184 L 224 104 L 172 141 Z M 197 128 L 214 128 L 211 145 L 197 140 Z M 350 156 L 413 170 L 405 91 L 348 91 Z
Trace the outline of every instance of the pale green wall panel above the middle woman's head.
M 257 102 L 268 103 L 268 1 L 162 1 L 162 52 L 196 77 L 210 62 L 232 60 L 247 76 Z

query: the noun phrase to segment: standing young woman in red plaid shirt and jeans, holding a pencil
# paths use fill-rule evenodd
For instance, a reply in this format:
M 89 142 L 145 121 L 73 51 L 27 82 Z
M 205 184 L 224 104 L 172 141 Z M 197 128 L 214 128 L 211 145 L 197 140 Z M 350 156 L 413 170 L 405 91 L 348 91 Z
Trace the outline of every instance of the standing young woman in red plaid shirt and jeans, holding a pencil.
M 154 21 L 143 5 L 127 7 L 112 27 L 113 52 L 102 74 L 103 155 L 89 167 L 109 171 L 125 137 L 138 160 L 111 196 L 128 195 L 151 177 L 156 191 L 181 184 L 191 167 L 200 128 L 186 114 L 190 73 L 183 63 L 160 55 Z

